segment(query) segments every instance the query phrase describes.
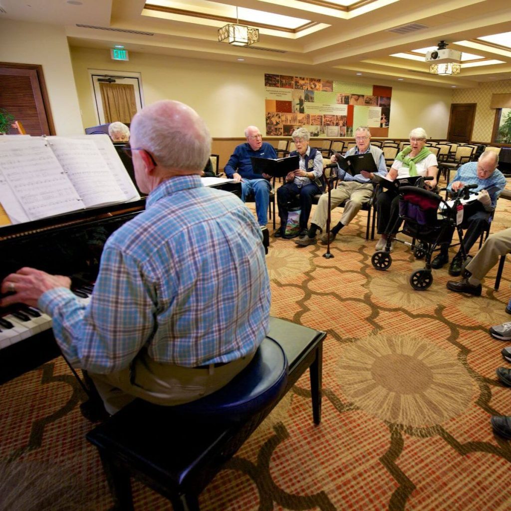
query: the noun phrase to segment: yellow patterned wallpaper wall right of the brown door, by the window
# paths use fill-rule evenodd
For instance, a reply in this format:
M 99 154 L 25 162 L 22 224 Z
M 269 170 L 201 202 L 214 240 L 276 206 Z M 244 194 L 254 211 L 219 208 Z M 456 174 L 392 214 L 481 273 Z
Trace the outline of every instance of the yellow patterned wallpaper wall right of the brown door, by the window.
M 492 94 L 509 92 L 511 92 L 511 80 L 479 82 L 478 86 L 472 89 L 453 90 L 453 103 L 477 103 L 474 131 L 472 132 L 473 141 L 491 142 L 495 121 L 495 108 L 490 108 Z

